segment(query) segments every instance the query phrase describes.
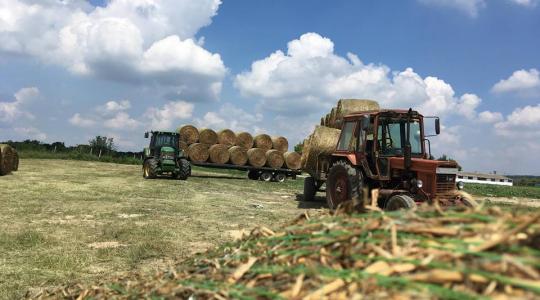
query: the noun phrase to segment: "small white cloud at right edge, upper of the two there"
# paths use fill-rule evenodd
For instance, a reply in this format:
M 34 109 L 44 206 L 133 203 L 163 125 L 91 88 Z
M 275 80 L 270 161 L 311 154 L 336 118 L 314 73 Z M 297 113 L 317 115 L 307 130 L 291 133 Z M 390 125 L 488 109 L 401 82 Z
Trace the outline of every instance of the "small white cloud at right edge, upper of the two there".
M 515 71 L 507 79 L 497 82 L 494 93 L 517 93 L 522 96 L 536 96 L 540 93 L 540 72 L 537 69 Z

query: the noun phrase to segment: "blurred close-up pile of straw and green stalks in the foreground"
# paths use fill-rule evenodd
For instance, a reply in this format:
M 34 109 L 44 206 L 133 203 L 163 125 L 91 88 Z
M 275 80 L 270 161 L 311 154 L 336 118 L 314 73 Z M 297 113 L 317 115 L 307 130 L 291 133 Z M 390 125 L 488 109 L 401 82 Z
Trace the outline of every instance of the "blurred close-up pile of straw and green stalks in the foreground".
M 538 299 L 539 219 L 497 207 L 304 214 L 167 272 L 36 297 Z

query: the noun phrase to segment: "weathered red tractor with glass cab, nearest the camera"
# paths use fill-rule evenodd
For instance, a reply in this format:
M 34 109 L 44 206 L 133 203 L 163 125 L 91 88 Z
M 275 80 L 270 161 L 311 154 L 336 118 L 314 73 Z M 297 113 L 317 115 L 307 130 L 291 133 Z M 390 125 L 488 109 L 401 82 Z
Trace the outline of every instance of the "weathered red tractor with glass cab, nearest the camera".
M 376 204 L 385 210 L 410 209 L 418 204 L 475 206 L 476 202 L 456 184 L 454 161 L 431 159 L 424 117 L 412 109 L 353 113 L 341 122 L 335 151 L 318 157 L 315 170 L 304 182 L 304 197 L 313 200 L 326 184 L 331 209 L 348 200 L 364 201 L 364 193 L 378 189 Z M 434 135 L 431 135 L 434 136 Z M 426 149 L 427 147 L 427 149 Z M 369 194 L 368 194 L 369 195 Z

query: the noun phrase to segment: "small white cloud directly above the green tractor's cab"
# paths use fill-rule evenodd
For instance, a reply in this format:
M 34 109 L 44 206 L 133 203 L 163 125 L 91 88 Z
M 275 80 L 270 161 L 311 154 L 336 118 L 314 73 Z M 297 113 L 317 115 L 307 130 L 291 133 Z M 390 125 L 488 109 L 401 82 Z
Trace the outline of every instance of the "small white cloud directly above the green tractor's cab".
M 172 101 L 162 108 L 149 108 L 145 113 L 145 118 L 150 121 L 152 130 L 170 130 L 174 122 L 191 118 L 194 105 L 185 101 Z

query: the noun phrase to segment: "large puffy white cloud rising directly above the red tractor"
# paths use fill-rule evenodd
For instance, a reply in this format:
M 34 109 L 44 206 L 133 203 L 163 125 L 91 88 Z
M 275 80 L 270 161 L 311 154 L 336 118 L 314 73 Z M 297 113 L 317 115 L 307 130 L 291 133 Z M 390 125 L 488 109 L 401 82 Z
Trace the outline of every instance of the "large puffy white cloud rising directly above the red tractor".
M 260 99 L 263 109 L 291 115 L 328 109 L 339 98 L 371 98 L 383 107 L 473 117 L 481 101 L 474 94 L 456 96 L 444 80 L 422 78 L 412 68 L 391 71 L 352 53 L 336 55 L 333 42 L 317 33 L 289 42 L 287 53 L 277 50 L 253 62 L 236 76 L 235 86 L 243 96 Z

